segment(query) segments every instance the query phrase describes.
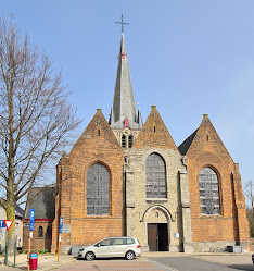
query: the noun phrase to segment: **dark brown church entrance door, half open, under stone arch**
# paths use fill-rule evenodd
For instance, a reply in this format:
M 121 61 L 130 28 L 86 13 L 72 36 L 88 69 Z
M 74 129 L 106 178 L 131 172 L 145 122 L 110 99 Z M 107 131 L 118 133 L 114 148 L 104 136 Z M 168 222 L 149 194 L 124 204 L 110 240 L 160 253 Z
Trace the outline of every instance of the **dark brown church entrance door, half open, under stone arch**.
M 149 251 L 168 251 L 167 223 L 148 224 Z

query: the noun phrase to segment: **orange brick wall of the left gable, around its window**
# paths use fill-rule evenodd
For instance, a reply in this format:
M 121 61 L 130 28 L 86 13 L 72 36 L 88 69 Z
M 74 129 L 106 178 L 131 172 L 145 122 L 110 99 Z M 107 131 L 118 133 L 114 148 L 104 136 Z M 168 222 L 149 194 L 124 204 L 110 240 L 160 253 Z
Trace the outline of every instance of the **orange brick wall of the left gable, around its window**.
M 102 163 L 110 171 L 110 215 L 87 215 L 87 171 Z M 63 246 L 90 245 L 107 236 L 122 236 L 124 153 L 101 110 L 98 110 L 68 156 L 58 165 L 59 199 L 56 212 L 69 233 L 62 233 Z M 59 205 L 58 205 L 59 204 Z M 53 223 L 53 243 L 58 242 L 58 221 Z

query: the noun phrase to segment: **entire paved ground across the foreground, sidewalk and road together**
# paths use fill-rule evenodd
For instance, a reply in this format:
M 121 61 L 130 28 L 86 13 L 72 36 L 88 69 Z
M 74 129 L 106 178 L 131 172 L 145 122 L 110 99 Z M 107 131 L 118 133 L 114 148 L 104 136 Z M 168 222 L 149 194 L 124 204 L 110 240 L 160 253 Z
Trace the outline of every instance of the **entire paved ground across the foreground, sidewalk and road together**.
M 77 260 L 75 257 L 40 255 L 38 270 L 41 271 L 254 271 L 250 254 L 172 254 L 144 252 L 132 261 L 122 259 L 97 259 L 94 261 Z M 11 260 L 12 258 L 10 258 Z M 0 261 L 3 258 L 0 257 Z M 9 262 L 11 266 L 12 262 Z M 16 258 L 16 268 L 0 264 L 0 271 L 27 270 L 27 255 Z

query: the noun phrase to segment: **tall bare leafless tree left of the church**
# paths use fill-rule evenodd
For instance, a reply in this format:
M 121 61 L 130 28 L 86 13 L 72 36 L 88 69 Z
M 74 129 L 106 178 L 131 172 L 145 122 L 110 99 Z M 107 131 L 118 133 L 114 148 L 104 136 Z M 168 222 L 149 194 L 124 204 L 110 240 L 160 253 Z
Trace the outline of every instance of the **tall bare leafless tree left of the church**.
M 67 96 L 50 59 L 0 19 L 0 204 L 9 220 L 79 124 Z

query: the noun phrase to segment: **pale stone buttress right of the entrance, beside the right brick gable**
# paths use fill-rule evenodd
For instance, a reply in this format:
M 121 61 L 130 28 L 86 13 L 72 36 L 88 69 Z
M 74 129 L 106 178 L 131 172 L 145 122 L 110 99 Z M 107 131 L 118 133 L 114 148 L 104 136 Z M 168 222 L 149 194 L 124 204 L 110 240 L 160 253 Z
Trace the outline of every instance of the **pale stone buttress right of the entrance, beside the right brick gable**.
M 180 200 L 182 214 L 183 252 L 193 252 L 188 171 L 180 171 Z

